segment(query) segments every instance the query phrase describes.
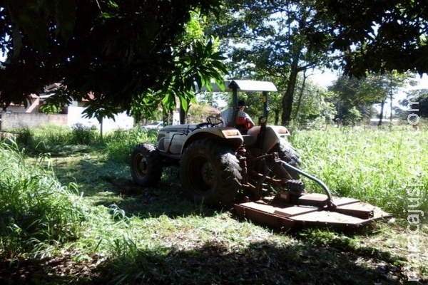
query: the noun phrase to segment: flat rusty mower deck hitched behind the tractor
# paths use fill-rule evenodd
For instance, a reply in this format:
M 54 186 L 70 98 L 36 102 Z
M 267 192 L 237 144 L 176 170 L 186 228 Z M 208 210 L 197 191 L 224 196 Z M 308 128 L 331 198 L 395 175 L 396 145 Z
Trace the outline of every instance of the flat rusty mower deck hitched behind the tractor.
M 235 204 L 239 217 L 268 227 L 289 230 L 295 225 L 360 227 L 377 219 L 391 217 L 379 207 L 359 199 L 335 197 L 335 207 L 327 207 L 327 195 L 309 193 L 300 196 L 297 204 L 266 197 L 255 202 Z

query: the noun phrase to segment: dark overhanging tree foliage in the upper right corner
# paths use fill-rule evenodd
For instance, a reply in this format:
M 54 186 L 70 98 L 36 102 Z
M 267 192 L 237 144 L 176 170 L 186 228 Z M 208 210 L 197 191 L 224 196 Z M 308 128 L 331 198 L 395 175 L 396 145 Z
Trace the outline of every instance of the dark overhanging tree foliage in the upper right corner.
M 315 19 L 330 22 L 332 51 L 348 76 L 385 71 L 428 72 L 428 10 L 422 0 L 320 0 Z M 316 43 L 316 42 L 315 42 Z

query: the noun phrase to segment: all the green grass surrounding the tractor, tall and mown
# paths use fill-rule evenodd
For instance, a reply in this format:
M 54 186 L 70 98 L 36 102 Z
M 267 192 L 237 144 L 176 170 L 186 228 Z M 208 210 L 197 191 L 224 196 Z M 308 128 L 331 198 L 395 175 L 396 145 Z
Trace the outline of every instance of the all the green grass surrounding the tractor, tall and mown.
M 0 283 L 405 284 L 409 233 L 402 211 L 409 206 L 411 153 L 399 143 L 405 131 L 293 133 L 302 169 L 335 195 L 384 207 L 397 220 L 352 231 L 285 233 L 189 202 L 176 170 L 165 171 L 157 188 L 134 185 L 129 154 L 138 142 L 153 142 L 151 133 L 118 130 L 79 150 L 68 135 L 61 140 L 34 130 L 28 142 L 56 140 L 51 149 L 62 151 L 0 146 Z M 412 138 L 422 144 L 427 130 Z M 418 209 L 426 212 L 427 155 L 418 163 L 424 183 Z M 16 219 L 4 218 L 12 213 Z M 424 249 L 427 224 L 418 237 Z M 422 281 L 428 281 L 427 259 L 422 251 Z

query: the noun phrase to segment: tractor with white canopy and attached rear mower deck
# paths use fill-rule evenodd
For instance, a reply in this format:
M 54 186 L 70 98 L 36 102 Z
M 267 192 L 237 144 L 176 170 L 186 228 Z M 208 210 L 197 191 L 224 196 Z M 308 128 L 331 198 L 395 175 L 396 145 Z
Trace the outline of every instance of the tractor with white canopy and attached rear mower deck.
M 240 217 L 270 227 L 290 229 L 297 224 L 358 227 L 389 217 L 382 209 L 359 199 L 332 197 L 324 182 L 300 169 L 300 158 L 287 128 L 267 125 L 267 81 L 225 81 L 212 92 L 230 92 L 232 124 L 216 116 L 198 124 L 168 125 L 158 132 L 156 145 L 141 143 L 131 154 L 131 176 L 141 187 L 156 187 L 165 167 L 177 167 L 180 184 L 194 202 L 233 206 Z M 263 115 L 247 130 L 237 121 L 238 93 L 261 93 Z M 319 185 L 322 194 L 308 192 L 301 177 Z

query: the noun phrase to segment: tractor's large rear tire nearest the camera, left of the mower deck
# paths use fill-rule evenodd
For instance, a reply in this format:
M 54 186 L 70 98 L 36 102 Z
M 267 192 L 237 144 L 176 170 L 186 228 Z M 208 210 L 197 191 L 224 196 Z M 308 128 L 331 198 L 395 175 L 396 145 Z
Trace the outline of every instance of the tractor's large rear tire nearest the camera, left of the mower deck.
M 180 182 L 194 202 L 230 205 L 241 187 L 235 152 L 212 140 L 196 140 L 180 162 Z

